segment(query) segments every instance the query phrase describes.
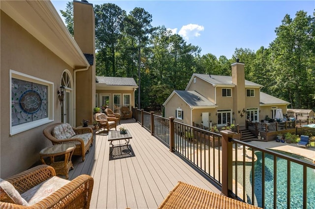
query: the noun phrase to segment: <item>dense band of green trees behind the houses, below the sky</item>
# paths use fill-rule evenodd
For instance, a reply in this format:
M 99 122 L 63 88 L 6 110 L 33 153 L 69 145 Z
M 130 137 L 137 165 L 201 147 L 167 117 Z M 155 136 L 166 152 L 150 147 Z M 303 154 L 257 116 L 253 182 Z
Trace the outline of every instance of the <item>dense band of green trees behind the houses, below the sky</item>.
M 285 15 L 267 48 L 236 48 L 232 57 L 218 58 L 200 55 L 198 46 L 165 26 L 153 27 L 152 15 L 143 8 L 129 14 L 113 3 L 94 8 L 96 75 L 134 78 L 135 99 L 145 109 L 159 108 L 173 90 L 184 90 L 193 73 L 231 76 L 236 58 L 245 63 L 246 79 L 261 84 L 262 92 L 289 102 L 290 108 L 315 109 L 314 14 Z M 73 34 L 73 3 L 61 13 Z

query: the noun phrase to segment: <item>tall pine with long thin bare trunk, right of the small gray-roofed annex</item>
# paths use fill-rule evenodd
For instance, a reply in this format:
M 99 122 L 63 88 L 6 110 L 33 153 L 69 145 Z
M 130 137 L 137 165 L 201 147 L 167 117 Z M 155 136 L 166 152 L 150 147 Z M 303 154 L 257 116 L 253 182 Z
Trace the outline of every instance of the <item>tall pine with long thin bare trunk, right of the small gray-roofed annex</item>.
M 125 20 L 127 34 L 135 37 L 138 42 L 138 108 L 141 108 L 141 48 L 146 46 L 149 35 L 155 28 L 151 25 L 152 15 L 143 8 L 134 8 L 130 11 Z

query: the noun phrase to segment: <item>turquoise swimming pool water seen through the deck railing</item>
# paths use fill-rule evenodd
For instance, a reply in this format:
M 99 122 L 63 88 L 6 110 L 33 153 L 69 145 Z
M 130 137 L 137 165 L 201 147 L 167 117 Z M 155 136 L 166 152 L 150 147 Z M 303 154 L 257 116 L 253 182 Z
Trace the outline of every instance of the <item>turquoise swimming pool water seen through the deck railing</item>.
M 262 207 L 262 153 L 255 152 L 255 196 L 258 206 Z M 300 156 L 297 156 L 301 158 Z M 302 157 L 304 159 L 304 157 Z M 265 208 L 274 208 L 274 159 L 273 156 L 265 154 Z M 277 157 L 277 209 L 287 208 L 287 160 Z M 252 183 L 252 174 L 251 174 Z M 292 209 L 303 208 L 303 166 L 291 162 L 291 191 L 290 201 Z M 315 170 L 307 170 L 307 208 L 315 208 Z

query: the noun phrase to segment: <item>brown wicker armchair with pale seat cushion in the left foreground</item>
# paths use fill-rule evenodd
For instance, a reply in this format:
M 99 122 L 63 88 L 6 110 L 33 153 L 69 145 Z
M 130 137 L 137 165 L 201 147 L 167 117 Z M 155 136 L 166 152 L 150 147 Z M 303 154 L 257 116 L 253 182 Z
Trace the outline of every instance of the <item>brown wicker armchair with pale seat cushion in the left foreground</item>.
M 30 192 L 36 192 L 43 189 L 42 184 L 51 183 L 55 185 L 50 191 L 37 192 L 37 197 L 33 203 L 31 200 L 24 199 L 29 206 L 22 206 L 15 203 L 0 202 L 1 209 L 89 209 L 94 180 L 89 175 L 80 175 L 72 181 L 56 177 L 53 167 L 49 165 L 38 165 L 20 174 L 14 175 L 8 179 L 15 190 L 21 195 L 21 198 L 27 197 Z M 57 183 L 59 182 L 59 183 Z M 61 183 L 62 182 L 62 183 Z M 58 184 L 58 186 L 57 186 Z M 61 187 L 60 187 L 61 186 Z M 56 190 L 55 190 L 56 189 Z M 42 190 L 40 190 L 42 191 Z M 34 198 L 34 197 L 32 197 Z

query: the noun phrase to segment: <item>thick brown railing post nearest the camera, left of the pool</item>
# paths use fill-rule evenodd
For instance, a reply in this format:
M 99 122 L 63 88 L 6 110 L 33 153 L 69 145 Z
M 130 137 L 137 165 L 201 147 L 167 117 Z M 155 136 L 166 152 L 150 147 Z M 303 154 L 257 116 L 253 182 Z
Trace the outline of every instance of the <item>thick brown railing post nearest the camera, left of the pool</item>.
M 220 131 L 222 135 L 222 194 L 230 197 L 232 192 L 232 145 L 233 131 Z

